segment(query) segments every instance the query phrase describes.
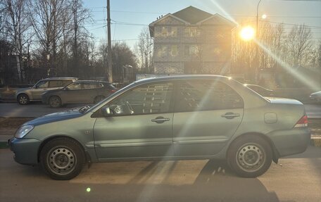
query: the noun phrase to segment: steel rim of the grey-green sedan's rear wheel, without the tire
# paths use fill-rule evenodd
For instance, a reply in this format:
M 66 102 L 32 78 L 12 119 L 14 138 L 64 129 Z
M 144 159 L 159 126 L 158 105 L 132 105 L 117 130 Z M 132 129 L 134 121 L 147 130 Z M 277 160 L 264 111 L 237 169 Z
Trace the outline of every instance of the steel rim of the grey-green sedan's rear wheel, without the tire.
M 237 151 L 237 165 L 246 172 L 256 172 L 265 163 L 265 151 L 255 143 L 244 144 Z

